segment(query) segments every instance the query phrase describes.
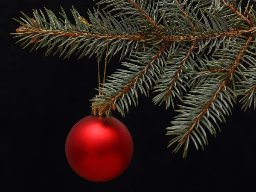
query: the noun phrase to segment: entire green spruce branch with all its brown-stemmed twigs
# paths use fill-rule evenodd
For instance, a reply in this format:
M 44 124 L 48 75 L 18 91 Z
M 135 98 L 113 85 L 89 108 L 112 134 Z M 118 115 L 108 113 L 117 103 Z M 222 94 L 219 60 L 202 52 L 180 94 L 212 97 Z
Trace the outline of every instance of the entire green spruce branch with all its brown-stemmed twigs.
M 76 52 L 78 59 L 101 60 L 109 43 L 108 61 L 121 52 L 127 70 L 109 76 L 96 89 L 104 94 L 90 101 L 107 118 L 116 109 L 125 116 L 138 105 L 139 91 L 154 90 L 154 104 L 166 109 L 179 98 L 183 105 L 166 135 L 176 135 L 169 146 L 177 143 L 177 152 L 184 145 L 185 158 L 190 140 L 204 149 L 207 130 L 216 136 L 239 96 L 244 110 L 256 108 L 256 11 L 249 2 L 242 14 L 241 0 L 99 0 L 105 9 L 88 10 L 89 22 L 71 9 L 76 24 L 62 7 L 62 18 L 45 9 L 46 19 L 35 9 L 35 19 L 24 13 L 15 19 L 21 25 L 15 35 L 23 48 L 47 47 L 47 56 L 57 47 L 53 55 L 64 58 Z

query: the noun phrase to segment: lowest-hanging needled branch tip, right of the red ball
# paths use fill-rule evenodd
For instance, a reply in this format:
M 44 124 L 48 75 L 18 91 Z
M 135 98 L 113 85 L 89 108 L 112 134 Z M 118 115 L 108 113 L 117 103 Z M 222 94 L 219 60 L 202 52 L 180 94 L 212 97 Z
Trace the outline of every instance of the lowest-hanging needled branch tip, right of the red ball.
M 177 152 L 185 144 L 183 158 L 186 158 L 189 139 L 193 140 L 197 149 L 198 143 L 204 149 L 204 145 L 208 144 L 208 141 L 203 125 L 211 134 L 216 135 L 215 128 L 208 118 L 210 117 L 219 128 L 216 119 L 220 122 L 225 122 L 222 113 L 228 115 L 231 113 L 229 105 L 233 106 L 231 102 L 232 96 L 230 95 L 232 91 L 226 84 L 227 81 L 225 80 L 209 78 L 203 81 L 203 85 L 192 89 L 190 91 L 192 94 L 187 94 L 183 103 L 189 106 L 179 105 L 180 109 L 177 111 L 180 114 L 172 121 L 174 126 L 166 128 L 169 130 L 166 135 L 178 135 L 169 142 L 169 146 L 178 142 L 173 152 Z

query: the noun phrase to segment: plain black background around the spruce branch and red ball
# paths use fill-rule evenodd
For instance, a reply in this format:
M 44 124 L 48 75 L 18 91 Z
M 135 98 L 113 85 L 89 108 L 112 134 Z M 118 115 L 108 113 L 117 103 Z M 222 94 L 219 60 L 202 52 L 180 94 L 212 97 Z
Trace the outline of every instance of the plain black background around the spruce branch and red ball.
M 246 1 L 247 2 L 247 1 Z M 246 3 L 244 2 L 244 4 Z M 197 151 L 189 147 L 173 154 L 166 148 L 173 137 L 166 136 L 169 123 L 177 115 L 172 108 L 158 107 L 140 94 L 139 106 L 130 107 L 125 118 L 114 111 L 131 132 L 134 156 L 128 169 L 106 183 L 93 183 L 76 175 L 65 157 L 65 140 L 73 125 L 90 115 L 90 101 L 97 91 L 96 57 L 78 56 L 63 60 L 58 55 L 44 57 L 46 48 L 29 52 L 15 44 L 9 33 L 20 25 L 12 18 L 20 11 L 33 17 L 32 9 L 52 10 L 62 6 L 85 18 L 93 0 L 0 2 L 0 152 L 1 192 L 164 192 L 164 191 L 247 191 L 254 190 L 256 112 L 241 111 L 235 105 L 233 116 L 220 124 L 217 138 L 208 133 L 209 145 Z M 60 16 L 60 15 L 58 15 Z M 70 19 L 72 20 L 72 19 Z M 73 20 L 72 20 L 73 21 Z M 104 63 L 101 63 L 103 72 Z M 120 65 L 119 55 L 108 64 L 107 76 Z M 103 75 L 103 74 L 102 74 Z M 179 102 L 177 102 L 179 103 Z M 177 109 L 177 107 L 175 108 Z

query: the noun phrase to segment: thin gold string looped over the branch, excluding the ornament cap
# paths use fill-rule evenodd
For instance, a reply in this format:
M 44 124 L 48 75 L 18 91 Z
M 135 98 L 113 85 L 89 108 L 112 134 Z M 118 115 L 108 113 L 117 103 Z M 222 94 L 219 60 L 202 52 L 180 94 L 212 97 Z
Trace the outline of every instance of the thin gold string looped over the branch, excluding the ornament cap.
M 84 19 L 84 17 L 78 17 L 78 19 L 86 24 L 87 26 L 90 26 L 90 27 L 97 27 L 97 26 L 93 26 L 92 24 L 89 24 L 89 22 Z M 101 26 L 103 28 L 103 30 L 105 31 L 105 34 L 108 35 L 106 29 L 104 26 Z M 107 43 L 108 43 L 108 40 L 107 40 Z M 109 43 L 108 43 L 109 44 Z M 106 51 L 106 57 L 105 57 L 105 69 L 104 69 L 104 76 L 103 76 L 103 84 L 105 83 L 105 79 L 106 79 L 106 70 L 107 70 L 107 63 L 108 63 L 108 59 L 107 59 L 107 55 L 108 55 L 108 47 L 109 45 L 107 44 L 107 51 Z M 97 60 L 98 60 L 98 79 L 99 79 L 99 90 L 100 90 L 100 73 L 99 73 L 99 51 L 97 51 Z M 104 88 L 104 85 L 102 86 L 102 88 Z M 103 93 L 101 93 L 99 91 L 99 95 L 102 95 L 103 96 Z

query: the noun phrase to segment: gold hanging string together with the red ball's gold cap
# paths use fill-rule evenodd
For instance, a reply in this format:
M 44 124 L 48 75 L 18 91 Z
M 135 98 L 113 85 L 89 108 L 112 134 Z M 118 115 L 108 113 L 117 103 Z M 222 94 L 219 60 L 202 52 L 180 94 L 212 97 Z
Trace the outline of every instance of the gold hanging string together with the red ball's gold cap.
M 78 17 L 78 19 L 86 24 L 87 26 L 90 26 L 90 27 L 97 27 L 97 26 L 93 26 L 92 24 L 89 24 L 88 21 L 86 19 L 84 19 L 84 17 Z M 101 26 L 103 28 L 103 30 L 105 31 L 105 34 L 108 35 L 106 29 L 104 26 Z M 108 59 L 107 59 L 107 55 L 108 55 L 108 48 L 109 48 L 109 42 L 107 40 L 107 51 L 106 51 L 106 57 L 105 57 L 105 69 L 104 69 L 104 76 L 103 76 L 103 86 L 102 86 L 102 89 L 104 88 L 104 83 L 105 83 L 105 79 L 106 79 L 106 70 L 107 70 L 107 63 L 108 63 Z M 99 51 L 97 51 L 97 60 L 98 60 L 98 81 L 99 81 L 99 95 L 102 95 L 103 96 L 103 93 L 101 93 L 100 91 L 100 73 L 99 73 Z M 97 97 L 97 96 L 96 96 Z M 93 115 L 97 115 L 97 111 L 99 112 L 99 109 L 97 110 L 97 108 L 93 107 L 92 108 L 92 113 Z M 107 111 L 105 111 L 106 113 Z M 102 113 L 99 113 L 99 116 L 102 116 Z

